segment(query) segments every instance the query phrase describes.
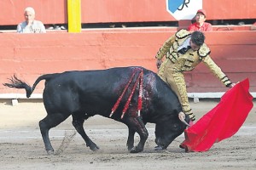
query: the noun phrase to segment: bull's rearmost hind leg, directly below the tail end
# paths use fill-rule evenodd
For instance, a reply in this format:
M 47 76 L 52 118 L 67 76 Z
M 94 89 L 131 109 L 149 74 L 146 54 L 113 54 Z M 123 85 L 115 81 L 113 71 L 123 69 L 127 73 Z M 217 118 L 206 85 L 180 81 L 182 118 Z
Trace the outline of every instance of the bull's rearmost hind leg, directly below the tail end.
M 59 125 L 67 119 L 68 115 L 64 114 L 48 114 L 39 122 L 40 131 L 44 140 L 45 150 L 49 155 L 54 154 L 54 149 L 49 141 L 49 129 Z

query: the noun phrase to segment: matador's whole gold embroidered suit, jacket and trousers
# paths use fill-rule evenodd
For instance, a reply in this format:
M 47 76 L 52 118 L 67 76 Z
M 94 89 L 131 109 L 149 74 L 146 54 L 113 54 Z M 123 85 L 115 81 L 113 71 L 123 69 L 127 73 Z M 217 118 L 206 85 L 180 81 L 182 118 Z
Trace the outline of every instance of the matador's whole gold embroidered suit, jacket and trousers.
M 231 82 L 218 65 L 213 62 L 209 55 L 211 51 L 207 48 L 205 43 L 197 51 L 190 48 L 185 54 L 177 52 L 177 48 L 181 46 L 190 35 L 190 32 L 186 30 L 177 31 L 175 35 L 166 40 L 155 58 L 162 59 L 166 56 L 166 59 L 160 65 L 158 75 L 169 84 L 172 90 L 177 94 L 184 113 L 189 115 L 190 119 L 194 121 L 195 116 L 189 106 L 183 71 L 192 71 L 196 65 L 203 62 L 225 86 L 228 87 Z

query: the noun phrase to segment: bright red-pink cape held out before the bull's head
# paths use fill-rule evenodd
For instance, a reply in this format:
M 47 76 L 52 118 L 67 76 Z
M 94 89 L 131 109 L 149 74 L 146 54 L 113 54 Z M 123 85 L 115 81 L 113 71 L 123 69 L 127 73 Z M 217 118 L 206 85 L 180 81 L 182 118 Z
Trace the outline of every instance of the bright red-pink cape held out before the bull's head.
M 234 135 L 253 108 L 253 96 L 248 90 L 248 79 L 238 82 L 222 96 L 212 111 L 186 129 L 181 144 L 186 151 L 207 151 L 212 144 Z

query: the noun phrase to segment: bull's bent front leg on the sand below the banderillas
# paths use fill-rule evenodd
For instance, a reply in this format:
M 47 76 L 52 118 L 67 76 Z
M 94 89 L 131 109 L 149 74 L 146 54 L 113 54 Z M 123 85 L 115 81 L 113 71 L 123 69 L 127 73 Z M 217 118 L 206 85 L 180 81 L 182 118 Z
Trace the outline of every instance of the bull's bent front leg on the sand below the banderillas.
M 148 139 L 148 130 L 146 129 L 142 118 L 141 117 L 130 117 L 130 118 L 128 118 L 127 125 L 128 125 L 128 127 L 131 128 L 131 130 L 137 132 L 140 136 L 139 143 L 137 144 L 137 146 L 131 148 L 130 152 L 138 153 L 138 152 L 143 151 L 145 142 Z M 129 132 L 130 132 L 130 130 L 129 130 Z M 128 139 L 129 139 L 129 137 L 128 137 Z M 129 143 L 129 144 L 131 144 L 131 143 Z

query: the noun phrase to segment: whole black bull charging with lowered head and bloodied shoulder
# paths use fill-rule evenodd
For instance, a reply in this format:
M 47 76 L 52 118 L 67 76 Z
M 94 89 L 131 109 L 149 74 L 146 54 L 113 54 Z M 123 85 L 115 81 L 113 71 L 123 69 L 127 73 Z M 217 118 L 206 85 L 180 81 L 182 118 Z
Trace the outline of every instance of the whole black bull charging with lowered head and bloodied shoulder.
M 142 110 L 140 116 L 137 116 L 140 86 L 135 83 L 141 71 L 143 71 Z M 135 74 L 134 78 L 131 78 L 133 74 Z M 83 137 L 86 145 L 90 150 L 98 150 L 99 147 L 84 132 L 84 120 L 96 114 L 109 117 L 113 105 L 118 100 L 119 105 L 111 118 L 125 123 L 128 127 L 127 147 L 131 153 L 143 151 L 148 139 L 148 131 L 145 127 L 147 122 L 155 123 L 155 143 L 158 149 L 166 149 L 186 128 L 186 125 L 178 119 L 182 107 L 177 95 L 154 72 L 142 67 L 46 74 L 38 77 L 32 87 L 13 77 L 10 83 L 3 85 L 9 88 L 25 88 L 26 97 L 29 98 L 41 80 L 45 80 L 43 99 L 47 116 L 39 122 L 39 127 L 45 150 L 49 154 L 54 151 L 49 141 L 49 129 L 59 125 L 70 115 L 73 116 L 73 126 Z M 129 86 L 127 86 L 128 82 L 131 82 Z M 127 87 L 126 92 L 125 87 Z M 131 95 L 132 91 L 133 95 Z M 121 94 L 124 94 L 122 98 Z M 131 103 L 121 118 L 130 96 Z M 188 118 L 186 117 L 187 121 Z M 140 136 L 137 146 L 134 146 L 135 133 Z

